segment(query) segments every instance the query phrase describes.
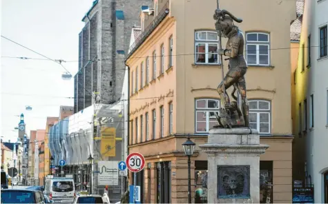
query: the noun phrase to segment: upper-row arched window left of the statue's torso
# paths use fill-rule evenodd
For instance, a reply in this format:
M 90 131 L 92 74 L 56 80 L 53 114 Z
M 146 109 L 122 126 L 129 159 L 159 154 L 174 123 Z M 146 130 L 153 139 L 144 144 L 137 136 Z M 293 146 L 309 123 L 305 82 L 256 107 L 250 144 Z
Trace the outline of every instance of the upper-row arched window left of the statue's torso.
M 218 33 L 199 30 L 195 32 L 195 63 L 218 64 Z

